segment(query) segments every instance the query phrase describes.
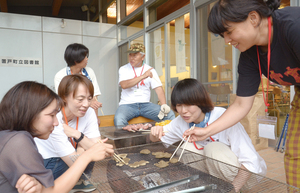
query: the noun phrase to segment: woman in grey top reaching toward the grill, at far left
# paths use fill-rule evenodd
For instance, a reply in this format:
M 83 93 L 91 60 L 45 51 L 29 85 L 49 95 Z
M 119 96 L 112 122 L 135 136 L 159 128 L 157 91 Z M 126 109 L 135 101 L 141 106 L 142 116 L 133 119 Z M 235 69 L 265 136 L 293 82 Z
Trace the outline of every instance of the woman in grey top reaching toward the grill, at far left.
M 114 153 L 94 144 L 59 178 L 44 167 L 34 137 L 46 140 L 58 125 L 62 101 L 47 86 L 26 81 L 11 88 L 0 103 L 0 192 L 69 192 L 91 161 Z

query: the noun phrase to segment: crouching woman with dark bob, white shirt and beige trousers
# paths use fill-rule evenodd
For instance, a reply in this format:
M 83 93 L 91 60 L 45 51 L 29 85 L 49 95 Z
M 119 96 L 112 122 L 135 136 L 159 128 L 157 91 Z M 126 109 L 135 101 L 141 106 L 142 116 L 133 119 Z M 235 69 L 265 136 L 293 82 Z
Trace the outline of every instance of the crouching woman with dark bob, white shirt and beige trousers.
M 179 116 L 166 126 L 152 127 L 151 141 L 174 144 L 182 140 L 183 133 L 194 124 L 195 128 L 207 127 L 226 110 L 213 106 L 204 86 L 196 79 L 184 79 L 175 85 L 171 94 L 171 105 Z M 260 175 L 266 174 L 266 163 L 256 152 L 241 123 L 212 135 L 206 140 L 186 143 L 186 149 L 190 151 L 244 169 L 234 171 L 232 169 L 234 167 L 224 168 L 227 166 L 226 164 L 218 165 L 214 161 L 206 162 L 210 174 L 232 182 L 236 191 L 239 191 L 250 177 L 248 172 L 244 172 L 245 170 Z

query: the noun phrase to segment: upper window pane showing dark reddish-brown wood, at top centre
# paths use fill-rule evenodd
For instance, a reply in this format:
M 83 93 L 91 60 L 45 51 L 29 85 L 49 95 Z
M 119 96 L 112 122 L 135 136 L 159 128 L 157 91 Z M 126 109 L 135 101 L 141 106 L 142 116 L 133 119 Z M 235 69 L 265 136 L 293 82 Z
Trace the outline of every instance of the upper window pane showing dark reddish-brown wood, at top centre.
M 157 0 L 149 7 L 149 24 L 164 18 L 165 16 L 188 5 L 190 0 Z

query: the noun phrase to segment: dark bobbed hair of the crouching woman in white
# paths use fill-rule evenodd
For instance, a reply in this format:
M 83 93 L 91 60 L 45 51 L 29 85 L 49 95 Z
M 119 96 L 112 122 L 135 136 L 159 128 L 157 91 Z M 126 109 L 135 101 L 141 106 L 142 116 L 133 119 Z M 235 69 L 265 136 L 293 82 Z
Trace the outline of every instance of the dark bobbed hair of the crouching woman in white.
M 176 83 L 171 94 L 171 106 L 174 111 L 177 104 L 196 105 L 203 113 L 214 109 L 208 92 L 201 82 L 193 78 L 186 78 Z

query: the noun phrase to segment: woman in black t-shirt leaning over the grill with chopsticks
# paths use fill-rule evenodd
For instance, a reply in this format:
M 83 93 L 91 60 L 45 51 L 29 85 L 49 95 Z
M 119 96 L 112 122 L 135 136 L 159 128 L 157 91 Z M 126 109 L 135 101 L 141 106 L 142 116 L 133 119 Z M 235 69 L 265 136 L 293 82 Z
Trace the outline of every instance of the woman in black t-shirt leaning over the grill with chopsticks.
M 242 52 L 237 97 L 213 124 L 184 135 L 193 134 L 191 141 L 205 139 L 239 122 L 252 107 L 262 74 L 272 82 L 295 85 L 284 162 L 286 182 L 300 188 L 300 7 L 279 6 L 279 0 L 219 0 L 213 6 L 209 31 Z

